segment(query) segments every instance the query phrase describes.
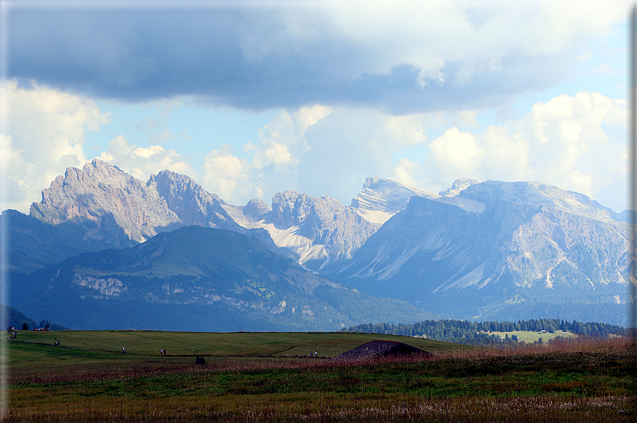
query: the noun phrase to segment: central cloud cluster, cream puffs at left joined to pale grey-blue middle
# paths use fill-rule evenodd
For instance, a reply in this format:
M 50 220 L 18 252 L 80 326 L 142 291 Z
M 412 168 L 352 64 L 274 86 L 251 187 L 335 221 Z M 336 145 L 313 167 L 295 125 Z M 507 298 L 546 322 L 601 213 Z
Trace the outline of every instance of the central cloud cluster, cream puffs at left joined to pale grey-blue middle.
M 232 204 L 253 197 L 269 202 L 276 192 L 290 188 L 349 204 L 367 176 L 397 175 L 401 182 L 413 183 L 411 173 L 422 173 L 419 164 L 396 164 L 392 154 L 425 145 L 431 122 L 440 123 L 440 116 L 391 116 L 320 105 L 282 110 L 260 129 L 256 144 L 243 145 L 248 159 L 239 158 L 229 145 L 210 152 L 201 180 Z

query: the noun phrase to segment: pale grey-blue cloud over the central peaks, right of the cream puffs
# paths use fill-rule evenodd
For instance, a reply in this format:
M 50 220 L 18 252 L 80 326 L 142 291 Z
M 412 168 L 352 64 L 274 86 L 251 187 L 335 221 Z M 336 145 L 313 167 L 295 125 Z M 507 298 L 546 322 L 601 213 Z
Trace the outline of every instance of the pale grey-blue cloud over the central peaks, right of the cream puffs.
M 400 177 L 401 182 L 428 182 L 420 177 L 420 158 L 396 159 L 405 151 L 425 152 L 430 126 L 440 114 L 391 116 L 377 109 L 333 111 L 305 133 L 309 150 L 298 165 L 298 188 L 314 196 L 329 194 L 349 204 L 366 177 Z

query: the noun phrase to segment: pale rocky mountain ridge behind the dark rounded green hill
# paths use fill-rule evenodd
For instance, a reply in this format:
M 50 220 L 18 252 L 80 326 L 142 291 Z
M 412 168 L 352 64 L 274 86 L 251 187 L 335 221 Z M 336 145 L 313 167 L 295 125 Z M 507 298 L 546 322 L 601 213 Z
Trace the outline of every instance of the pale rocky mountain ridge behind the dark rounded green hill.
M 233 206 L 186 175 L 163 170 L 141 182 L 96 159 L 55 178 L 30 216 L 4 213 L 17 222 L 14 275 L 195 224 L 244 234 L 315 275 L 453 318 L 604 304 L 619 319 L 628 301 L 626 212 L 543 182 L 465 178 L 433 194 L 369 177 L 350 206 L 294 189 L 271 207 L 260 199 Z M 31 229 L 38 225 L 50 240 Z

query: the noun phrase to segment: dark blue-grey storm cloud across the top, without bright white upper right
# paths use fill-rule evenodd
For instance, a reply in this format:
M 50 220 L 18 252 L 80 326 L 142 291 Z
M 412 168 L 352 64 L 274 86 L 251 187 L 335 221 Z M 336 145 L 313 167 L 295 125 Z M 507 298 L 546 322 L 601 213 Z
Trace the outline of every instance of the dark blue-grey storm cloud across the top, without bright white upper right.
M 124 101 L 193 95 L 245 109 L 307 104 L 375 106 L 397 114 L 467 109 L 549 87 L 567 75 L 572 60 L 565 51 L 523 55 L 510 48 L 495 70 L 474 72 L 458 83 L 454 75 L 489 59 L 488 51 L 469 65 L 458 57 L 462 53 L 432 53 L 442 60 L 444 77 L 435 77 L 434 69 L 423 78 L 423 65 L 413 62 L 422 57 L 426 63 L 428 57 L 418 53 L 421 45 L 411 35 L 400 34 L 401 25 L 398 35 L 387 33 L 386 43 L 379 38 L 370 45 L 356 40 L 356 25 L 365 22 L 354 20 L 343 30 L 334 16 L 309 9 L 290 15 L 267 7 L 13 7 L 9 13 L 8 77 Z M 458 32 L 456 39 L 440 33 L 441 40 L 462 46 Z M 423 52 L 442 42 L 432 33 L 413 35 L 418 36 Z M 398 48 L 400 40 L 413 43 L 415 52 L 394 54 L 391 43 Z

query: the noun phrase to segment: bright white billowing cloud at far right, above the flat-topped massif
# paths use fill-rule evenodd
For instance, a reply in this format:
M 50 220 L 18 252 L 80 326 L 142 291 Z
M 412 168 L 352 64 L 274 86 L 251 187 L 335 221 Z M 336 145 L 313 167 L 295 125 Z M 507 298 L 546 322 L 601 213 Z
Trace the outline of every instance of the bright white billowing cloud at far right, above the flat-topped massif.
M 626 175 L 619 170 L 624 165 L 626 119 L 626 101 L 599 93 L 560 95 L 535 104 L 516 128 L 530 143 L 530 176 L 604 199 L 602 204 L 609 206 L 614 196 L 612 207 L 617 207 L 626 195 Z

